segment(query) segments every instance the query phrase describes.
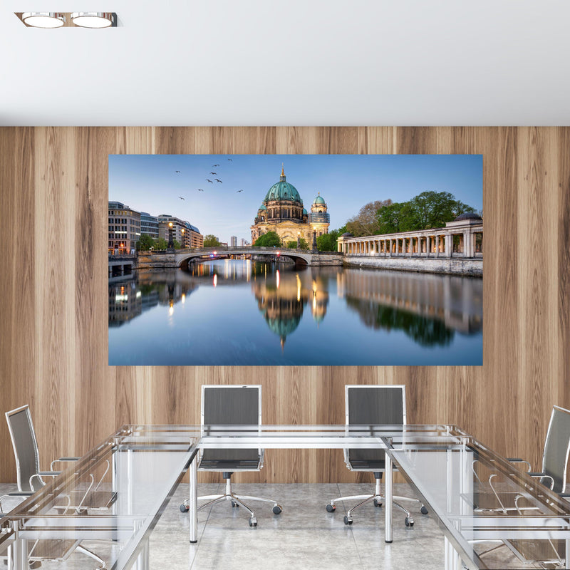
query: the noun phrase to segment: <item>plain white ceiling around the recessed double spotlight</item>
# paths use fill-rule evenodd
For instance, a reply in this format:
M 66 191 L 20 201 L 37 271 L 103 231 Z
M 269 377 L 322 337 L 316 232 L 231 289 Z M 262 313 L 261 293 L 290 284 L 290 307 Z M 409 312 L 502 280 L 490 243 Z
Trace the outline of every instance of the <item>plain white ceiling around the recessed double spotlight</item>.
M 0 125 L 570 125 L 568 0 L 1 4 Z

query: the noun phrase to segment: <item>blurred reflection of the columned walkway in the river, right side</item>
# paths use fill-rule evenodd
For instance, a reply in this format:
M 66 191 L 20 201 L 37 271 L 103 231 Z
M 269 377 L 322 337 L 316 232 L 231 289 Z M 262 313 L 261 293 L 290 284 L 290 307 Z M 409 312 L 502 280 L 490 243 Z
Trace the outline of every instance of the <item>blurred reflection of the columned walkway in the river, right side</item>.
M 363 271 L 338 274 L 337 286 L 340 297 L 437 318 L 455 331 L 473 333 L 482 328 L 482 279 Z

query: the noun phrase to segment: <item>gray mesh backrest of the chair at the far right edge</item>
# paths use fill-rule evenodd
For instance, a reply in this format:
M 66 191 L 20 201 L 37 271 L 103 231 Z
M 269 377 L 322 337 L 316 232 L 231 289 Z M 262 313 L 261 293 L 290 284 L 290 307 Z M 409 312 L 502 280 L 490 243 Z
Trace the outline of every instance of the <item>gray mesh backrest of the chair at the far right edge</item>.
M 556 493 L 564 493 L 569 452 L 570 411 L 555 405 L 552 408 L 546 441 L 544 442 L 542 472 L 554 479 L 553 490 Z M 544 484 L 550 487 L 551 482 L 544 480 Z

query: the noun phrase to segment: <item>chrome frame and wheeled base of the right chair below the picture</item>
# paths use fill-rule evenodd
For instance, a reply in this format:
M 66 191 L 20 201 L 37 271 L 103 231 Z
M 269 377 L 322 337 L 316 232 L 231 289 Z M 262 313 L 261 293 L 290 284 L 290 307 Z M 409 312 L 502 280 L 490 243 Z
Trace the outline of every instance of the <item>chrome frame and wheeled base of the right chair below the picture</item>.
M 400 388 L 402 390 L 402 406 L 403 406 L 403 418 L 402 418 L 402 425 L 406 425 L 406 405 L 405 405 L 405 385 L 404 384 L 346 384 L 344 386 L 344 393 L 345 393 L 345 423 L 346 423 L 346 427 L 348 429 L 348 427 L 351 425 L 350 423 L 350 417 L 349 417 L 349 408 L 348 408 L 348 391 L 353 389 L 353 388 L 378 388 L 378 389 L 382 389 L 382 388 Z M 374 506 L 375 507 L 381 507 L 383 501 L 385 500 L 383 497 L 383 494 L 381 492 L 381 485 L 380 485 L 380 478 L 382 477 L 382 471 L 378 471 L 371 468 L 358 468 L 355 469 L 353 468 L 353 466 L 351 465 L 351 460 L 349 457 L 349 449 L 348 448 L 344 448 L 343 449 L 343 455 L 344 455 L 344 461 L 346 462 L 346 467 L 348 467 L 348 470 L 350 471 L 362 471 L 362 472 L 373 472 L 374 473 L 374 478 L 375 478 L 375 488 L 374 488 L 374 493 L 373 494 L 358 494 L 358 495 L 351 495 L 349 497 L 337 497 L 336 499 L 332 499 L 331 502 L 329 502 L 326 505 L 326 510 L 327 512 L 334 512 L 336 511 L 336 503 L 340 502 L 340 501 L 361 501 L 358 504 L 356 504 L 354 507 L 352 507 L 351 509 L 348 509 L 348 511 L 346 512 L 346 515 L 344 517 L 344 524 L 353 524 L 353 511 L 355 511 L 356 509 L 359 509 L 360 507 L 363 507 L 365 504 L 368 504 L 369 502 L 373 501 L 374 502 Z M 395 467 L 393 467 L 394 470 L 396 470 Z M 393 505 L 395 507 L 398 507 L 398 509 L 400 509 L 401 511 L 403 511 L 405 513 L 405 526 L 406 527 L 413 527 L 414 524 L 414 519 L 412 517 L 411 512 L 406 509 L 405 507 L 403 507 L 403 505 L 399 504 L 397 501 L 413 501 L 413 502 L 417 502 L 421 505 L 421 512 L 422 514 L 427 514 L 427 509 L 425 508 L 424 504 L 420 501 L 420 499 L 415 499 L 414 497 L 401 497 L 400 495 L 393 495 Z

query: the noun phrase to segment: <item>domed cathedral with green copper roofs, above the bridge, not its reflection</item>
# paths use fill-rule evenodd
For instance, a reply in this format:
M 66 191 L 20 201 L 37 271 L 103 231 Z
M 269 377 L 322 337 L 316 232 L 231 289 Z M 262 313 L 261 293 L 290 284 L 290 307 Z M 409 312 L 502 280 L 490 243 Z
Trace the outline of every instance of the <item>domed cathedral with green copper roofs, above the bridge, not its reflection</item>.
M 276 232 L 284 246 L 287 242 L 296 242 L 304 238 L 312 246 L 316 237 L 328 233 L 330 216 L 326 212 L 326 202 L 321 192 L 314 199 L 309 214 L 303 207 L 303 200 L 296 187 L 285 179 L 284 168 L 281 177 L 265 195 L 264 201 L 257 210 L 252 226 L 252 244 L 267 232 Z

